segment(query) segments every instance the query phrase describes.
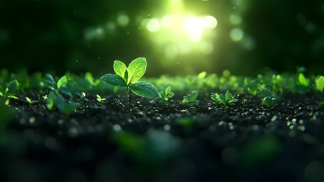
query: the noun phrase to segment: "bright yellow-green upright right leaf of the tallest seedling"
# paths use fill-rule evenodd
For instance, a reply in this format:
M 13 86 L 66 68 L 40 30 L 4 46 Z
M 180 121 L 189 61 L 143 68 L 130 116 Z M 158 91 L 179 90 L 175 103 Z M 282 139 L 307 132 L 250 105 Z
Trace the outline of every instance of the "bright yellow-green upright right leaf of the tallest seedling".
M 134 61 L 130 63 L 130 65 L 127 68 L 128 71 L 128 82 L 135 83 L 138 81 L 146 70 L 146 59 L 145 58 L 137 58 Z

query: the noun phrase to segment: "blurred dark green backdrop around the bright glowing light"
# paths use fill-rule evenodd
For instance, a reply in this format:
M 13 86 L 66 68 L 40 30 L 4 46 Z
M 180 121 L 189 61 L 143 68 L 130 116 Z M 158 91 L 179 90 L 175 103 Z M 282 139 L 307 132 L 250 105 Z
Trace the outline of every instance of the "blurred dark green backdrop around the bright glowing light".
M 170 0 L 171 1 L 171 0 Z M 38 0 L 1 1 L 0 68 L 16 72 L 26 69 L 64 74 L 92 72 L 95 76 L 113 72 L 112 62 L 127 65 L 138 57 L 147 59 L 145 76 L 185 75 L 201 71 L 254 75 L 268 67 L 295 71 L 305 66 L 315 74 L 324 70 L 324 3 L 321 0 L 185 0 L 185 9 L 196 16 L 214 16 L 218 25 L 215 48 L 209 55 L 188 53 L 168 59 L 139 29 L 138 17 L 165 15 L 159 0 Z M 118 13 L 129 17 L 125 27 L 107 33 L 107 21 Z M 241 16 L 240 25 L 229 22 L 231 14 Z M 99 27 L 100 36 L 87 39 L 87 30 Z M 245 49 L 229 38 L 233 27 L 253 37 L 254 48 Z M 103 32 L 102 32 L 103 31 Z

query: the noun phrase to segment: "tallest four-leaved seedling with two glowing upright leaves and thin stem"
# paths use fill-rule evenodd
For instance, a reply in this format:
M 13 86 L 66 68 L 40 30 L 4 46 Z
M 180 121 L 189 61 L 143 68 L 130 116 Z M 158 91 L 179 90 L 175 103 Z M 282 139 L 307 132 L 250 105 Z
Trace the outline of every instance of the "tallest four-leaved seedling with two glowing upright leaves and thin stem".
M 129 89 L 138 96 L 158 98 L 157 89 L 149 82 L 138 81 L 146 70 L 146 59 L 137 58 L 128 68 L 123 62 L 114 61 L 113 69 L 116 74 L 105 74 L 100 79 L 108 84 L 126 87 L 127 107 L 129 107 Z

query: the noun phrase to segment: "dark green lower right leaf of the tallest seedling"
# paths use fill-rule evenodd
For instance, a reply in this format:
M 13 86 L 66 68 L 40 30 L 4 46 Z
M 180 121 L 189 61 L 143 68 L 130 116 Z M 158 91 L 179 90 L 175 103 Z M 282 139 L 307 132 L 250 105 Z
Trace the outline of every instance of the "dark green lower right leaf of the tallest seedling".
M 129 88 L 136 95 L 148 98 L 158 98 L 157 89 L 149 82 L 137 81 L 135 83 L 131 83 Z

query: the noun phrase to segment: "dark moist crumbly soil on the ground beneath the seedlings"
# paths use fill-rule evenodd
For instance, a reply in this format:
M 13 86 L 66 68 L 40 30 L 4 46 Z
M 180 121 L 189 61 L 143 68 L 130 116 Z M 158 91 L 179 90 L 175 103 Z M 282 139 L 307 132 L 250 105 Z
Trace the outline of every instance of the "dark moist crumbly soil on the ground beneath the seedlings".
M 190 111 L 180 94 L 167 106 L 132 94 L 130 108 L 125 97 L 102 94 L 107 100 L 99 103 L 89 95 L 75 99 L 82 107 L 70 115 L 47 110 L 41 96 L 29 95 L 38 100 L 32 105 L 11 100 L 17 112 L 0 135 L 1 181 L 324 181 L 317 95 L 287 95 L 274 108 L 236 95 L 226 112 L 215 110 L 210 93 L 199 93 Z M 178 122 L 191 116 L 191 125 Z M 162 160 L 132 153 L 114 140 L 118 129 L 146 139 L 164 131 L 177 147 Z

